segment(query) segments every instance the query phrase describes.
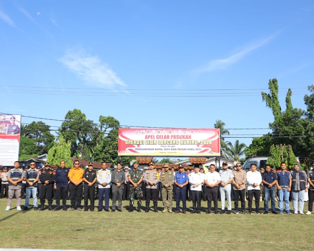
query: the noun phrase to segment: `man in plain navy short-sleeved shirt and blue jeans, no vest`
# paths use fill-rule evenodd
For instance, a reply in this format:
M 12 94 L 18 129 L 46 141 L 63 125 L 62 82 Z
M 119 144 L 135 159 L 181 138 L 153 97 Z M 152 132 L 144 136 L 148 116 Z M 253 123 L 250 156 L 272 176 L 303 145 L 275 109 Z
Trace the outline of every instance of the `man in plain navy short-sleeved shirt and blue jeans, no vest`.
M 265 165 L 265 172 L 262 174 L 262 183 L 264 184 L 264 214 L 268 213 L 268 200 L 270 197 L 271 200 L 271 210 L 273 214 L 278 214 L 276 212 L 276 203 L 275 203 L 275 185 L 277 183 L 277 175 L 271 171 L 269 164 Z

